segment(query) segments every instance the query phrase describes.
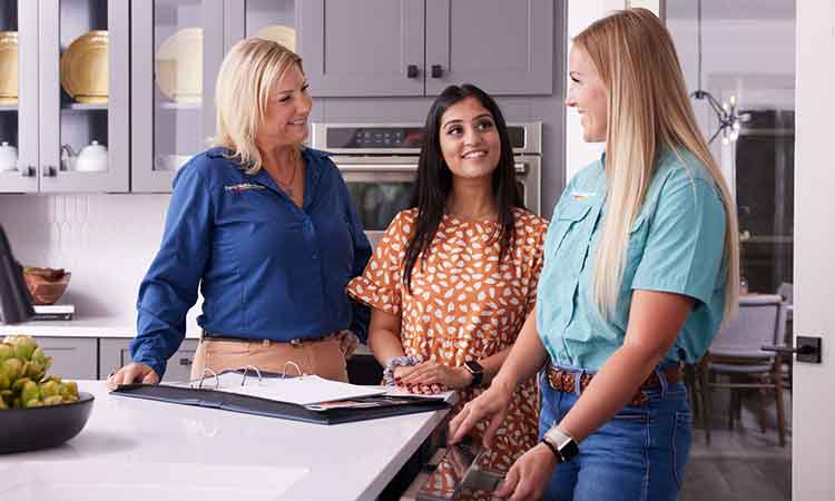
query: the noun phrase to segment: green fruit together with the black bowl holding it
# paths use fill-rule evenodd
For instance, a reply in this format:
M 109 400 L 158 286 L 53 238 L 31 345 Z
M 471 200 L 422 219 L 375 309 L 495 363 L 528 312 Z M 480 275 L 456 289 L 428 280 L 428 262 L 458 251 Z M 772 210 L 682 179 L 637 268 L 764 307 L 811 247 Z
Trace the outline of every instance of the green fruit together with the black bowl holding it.
M 0 343 L 0 454 L 59 445 L 87 423 L 92 395 L 75 382 L 47 377 L 51 365 L 29 336 Z

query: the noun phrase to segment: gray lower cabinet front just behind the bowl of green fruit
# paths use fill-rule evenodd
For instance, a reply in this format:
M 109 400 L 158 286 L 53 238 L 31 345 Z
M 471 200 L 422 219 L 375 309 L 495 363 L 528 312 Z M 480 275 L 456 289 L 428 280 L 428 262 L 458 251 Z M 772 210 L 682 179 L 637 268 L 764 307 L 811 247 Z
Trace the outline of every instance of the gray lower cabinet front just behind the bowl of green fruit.
M 48 374 L 65 380 L 95 380 L 98 377 L 98 340 L 95 337 L 37 337 L 47 356 L 52 357 Z

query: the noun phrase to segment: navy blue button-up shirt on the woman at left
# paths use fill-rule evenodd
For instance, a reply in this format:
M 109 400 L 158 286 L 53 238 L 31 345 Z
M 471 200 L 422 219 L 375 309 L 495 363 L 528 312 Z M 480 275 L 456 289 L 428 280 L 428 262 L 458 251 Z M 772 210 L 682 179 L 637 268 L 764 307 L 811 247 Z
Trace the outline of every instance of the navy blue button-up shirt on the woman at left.
M 370 312 L 345 294 L 371 257 L 345 183 L 326 154 L 305 149 L 299 208 L 262 169 L 212 148 L 174 180 L 159 253 L 139 287 L 135 362 L 160 376 L 186 334 L 186 313 L 226 336 L 289 341 L 350 328 L 366 337 Z

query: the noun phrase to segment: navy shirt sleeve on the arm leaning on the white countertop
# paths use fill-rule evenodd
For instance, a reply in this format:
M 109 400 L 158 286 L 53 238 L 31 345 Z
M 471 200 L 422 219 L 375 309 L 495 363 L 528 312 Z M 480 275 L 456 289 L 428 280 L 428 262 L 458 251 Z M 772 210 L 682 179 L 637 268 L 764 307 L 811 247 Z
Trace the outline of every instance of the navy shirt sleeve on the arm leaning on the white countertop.
M 134 362 L 161 377 L 186 335 L 186 313 L 209 258 L 213 204 L 199 165 L 180 169 L 166 215 L 159 252 L 139 286 Z

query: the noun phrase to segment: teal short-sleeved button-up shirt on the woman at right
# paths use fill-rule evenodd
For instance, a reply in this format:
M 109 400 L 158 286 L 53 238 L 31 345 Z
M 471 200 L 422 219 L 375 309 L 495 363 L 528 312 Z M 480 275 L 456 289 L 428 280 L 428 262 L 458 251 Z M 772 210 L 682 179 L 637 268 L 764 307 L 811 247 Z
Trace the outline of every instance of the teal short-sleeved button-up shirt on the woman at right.
M 595 255 L 606 215 L 605 156 L 578 173 L 553 212 L 537 295 L 537 328 L 554 364 L 598 370 L 623 344 L 632 291 L 696 299 L 666 361 L 695 362 L 725 306 L 725 206 L 707 168 L 688 151 L 658 160 L 632 224 L 615 314 L 592 299 Z

